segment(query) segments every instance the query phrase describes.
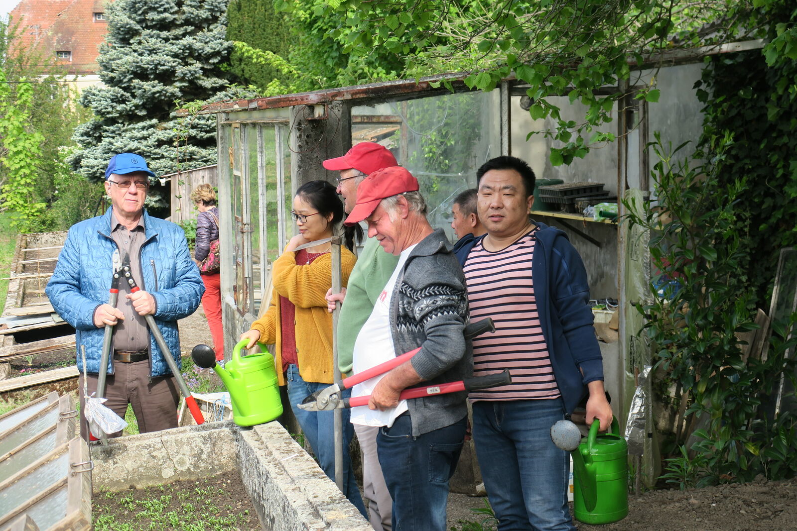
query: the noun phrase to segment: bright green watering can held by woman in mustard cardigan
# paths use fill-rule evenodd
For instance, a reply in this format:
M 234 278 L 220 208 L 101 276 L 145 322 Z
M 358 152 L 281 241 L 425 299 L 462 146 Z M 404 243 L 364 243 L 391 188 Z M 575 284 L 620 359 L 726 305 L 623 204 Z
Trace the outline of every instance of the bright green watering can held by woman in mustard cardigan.
M 254 426 L 282 415 L 280 388 L 274 358 L 258 343 L 261 352 L 241 356 L 241 349 L 249 340 L 244 339 L 233 349 L 233 357 L 222 367 L 216 363 L 213 349 L 197 345 L 191 350 L 194 363 L 203 369 L 213 369 L 224 382 L 233 402 L 233 420 L 238 426 Z

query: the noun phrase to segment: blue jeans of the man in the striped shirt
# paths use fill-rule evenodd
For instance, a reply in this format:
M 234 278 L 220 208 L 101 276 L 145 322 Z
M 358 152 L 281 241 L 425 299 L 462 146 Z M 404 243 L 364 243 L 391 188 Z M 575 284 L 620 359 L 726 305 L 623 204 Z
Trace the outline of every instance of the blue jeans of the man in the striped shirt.
M 473 443 L 500 531 L 575 531 L 567 507 L 570 459 L 551 440 L 562 400 L 479 400 Z

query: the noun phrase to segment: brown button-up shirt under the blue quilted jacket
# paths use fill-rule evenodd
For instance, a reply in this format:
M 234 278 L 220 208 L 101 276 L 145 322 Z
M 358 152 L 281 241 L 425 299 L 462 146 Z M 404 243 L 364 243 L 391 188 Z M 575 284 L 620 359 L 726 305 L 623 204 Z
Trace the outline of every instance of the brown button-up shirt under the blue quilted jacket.
M 120 260 L 124 261 L 124 257 L 128 256 L 130 271 L 135 283 L 142 290 L 146 289 L 147 287 L 143 285 L 139 261 L 141 244 L 146 239 L 144 217 L 141 217 L 139 224 L 132 231 L 128 231 L 124 225 L 116 221 L 116 216 L 112 212 L 111 227 L 111 238 L 119 248 Z M 147 330 L 147 321 L 133 309 L 133 304 L 126 298 L 129 293 L 128 283 L 120 282 L 116 307 L 124 314 L 124 321 L 117 322 L 113 327 L 113 349 L 122 352 L 141 352 L 149 348 L 149 330 Z

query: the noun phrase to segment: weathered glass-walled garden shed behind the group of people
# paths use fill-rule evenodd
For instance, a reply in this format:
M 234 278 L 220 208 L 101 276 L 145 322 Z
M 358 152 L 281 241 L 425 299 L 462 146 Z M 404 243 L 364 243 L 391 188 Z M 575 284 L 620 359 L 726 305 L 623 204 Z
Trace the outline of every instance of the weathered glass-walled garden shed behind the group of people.
M 701 77 L 702 57 L 760 46 L 760 41 L 717 45 L 632 64 L 634 81 L 601 89 L 620 96 L 611 111 L 610 132 L 616 140 L 569 166 L 552 166 L 548 154 L 556 145 L 551 138 L 527 136 L 550 130 L 553 123 L 531 118 L 526 88 L 514 79 L 481 92 L 467 87 L 465 74 L 447 74 L 203 107 L 202 113 L 218 118 L 226 342 L 233 344 L 248 329 L 261 311 L 261 299 L 270 295 L 270 264 L 296 229 L 289 215 L 294 190 L 312 179 L 333 182 L 337 176 L 321 166 L 325 158 L 340 156 L 363 141 L 387 146 L 418 178 L 430 205 L 430 222 L 444 228 L 452 241 L 453 197 L 475 187 L 477 168 L 501 154 L 526 160 L 538 180 L 589 182 L 621 199 L 634 190 L 638 197 L 649 197 L 654 162 L 647 143 L 654 132 L 673 146 L 701 133 L 701 103 L 693 85 Z M 638 88 L 652 83 L 661 91 L 658 102 L 634 98 Z M 583 118 L 580 103 L 570 103 L 567 96 L 560 100 L 555 103 L 563 116 Z M 623 208 L 619 205 L 621 215 Z M 563 212 L 557 205 L 535 206 L 531 216 L 568 233 L 587 266 L 594 299 L 618 301 L 618 340 L 602 343 L 602 349 L 607 390 L 622 427 L 638 372 L 649 362 L 634 338 L 641 323 L 631 306 L 650 278 L 645 235 L 622 223 Z

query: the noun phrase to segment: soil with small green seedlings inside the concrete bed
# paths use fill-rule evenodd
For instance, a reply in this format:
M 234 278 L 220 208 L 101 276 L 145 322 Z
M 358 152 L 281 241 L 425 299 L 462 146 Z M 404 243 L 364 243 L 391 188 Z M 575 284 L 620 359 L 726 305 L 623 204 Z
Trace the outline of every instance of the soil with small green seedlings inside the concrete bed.
M 261 529 L 235 472 L 145 489 L 100 491 L 92 496 L 92 524 L 96 531 Z

